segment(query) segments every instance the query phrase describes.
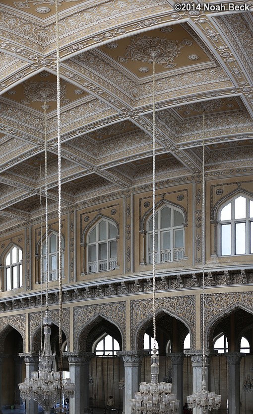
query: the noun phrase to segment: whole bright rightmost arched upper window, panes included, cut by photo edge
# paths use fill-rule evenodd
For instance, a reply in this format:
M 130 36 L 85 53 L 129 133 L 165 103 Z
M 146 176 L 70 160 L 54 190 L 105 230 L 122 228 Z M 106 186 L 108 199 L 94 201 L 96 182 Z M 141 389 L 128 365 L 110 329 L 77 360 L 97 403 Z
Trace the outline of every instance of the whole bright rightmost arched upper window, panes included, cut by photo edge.
M 219 211 L 220 255 L 253 253 L 253 200 L 239 195 Z

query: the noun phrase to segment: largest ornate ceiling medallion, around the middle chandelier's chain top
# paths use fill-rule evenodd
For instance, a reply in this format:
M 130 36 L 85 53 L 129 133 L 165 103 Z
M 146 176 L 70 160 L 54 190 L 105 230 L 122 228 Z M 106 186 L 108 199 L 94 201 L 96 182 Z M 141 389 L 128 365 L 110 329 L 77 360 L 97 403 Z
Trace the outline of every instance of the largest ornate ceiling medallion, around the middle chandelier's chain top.
M 133 36 L 131 44 L 126 48 L 125 56 L 119 56 L 119 62 L 144 61 L 151 63 L 152 54 L 156 56 L 156 63 L 163 65 L 165 68 L 174 68 L 176 63 L 174 59 L 180 54 L 184 46 L 191 46 L 192 41 L 189 39 L 169 40 L 160 37 Z

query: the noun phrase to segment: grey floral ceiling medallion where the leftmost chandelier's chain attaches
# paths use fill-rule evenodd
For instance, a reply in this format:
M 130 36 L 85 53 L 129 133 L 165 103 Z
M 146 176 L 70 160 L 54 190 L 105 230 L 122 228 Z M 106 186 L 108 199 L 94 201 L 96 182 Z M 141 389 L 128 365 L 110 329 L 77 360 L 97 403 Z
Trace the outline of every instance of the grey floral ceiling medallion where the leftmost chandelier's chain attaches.
M 27 100 L 21 101 L 22 103 L 44 102 L 45 100 L 56 101 L 57 100 L 57 83 L 56 82 L 31 82 L 24 83 L 24 95 Z M 66 85 L 61 85 L 61 99 L 66 96 Z M 64 100 L 67 103 L 68 99 Z

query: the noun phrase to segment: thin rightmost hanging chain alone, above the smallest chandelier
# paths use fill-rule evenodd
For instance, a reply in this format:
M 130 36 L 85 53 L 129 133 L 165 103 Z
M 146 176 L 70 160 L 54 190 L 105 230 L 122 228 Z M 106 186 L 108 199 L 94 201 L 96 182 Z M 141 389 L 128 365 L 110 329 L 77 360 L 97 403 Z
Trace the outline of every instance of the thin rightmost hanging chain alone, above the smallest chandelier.
M 203 111 L 203 138 L 202 138 L 202 334 L 203 334 L 203 371 L 205 371 L 205 111 Z

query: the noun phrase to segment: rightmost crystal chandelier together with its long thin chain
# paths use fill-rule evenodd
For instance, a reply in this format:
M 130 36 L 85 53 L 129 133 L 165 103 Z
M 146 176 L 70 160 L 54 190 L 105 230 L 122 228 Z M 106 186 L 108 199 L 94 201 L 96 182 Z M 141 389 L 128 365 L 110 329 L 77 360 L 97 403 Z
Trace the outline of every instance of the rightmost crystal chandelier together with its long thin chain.
M 205 111 L 203 110 L 203 140 L 202 140 L 202 332 L 203 332 L 203 354 L 202 354 L 202 389 L 201 391 L 192 393 L 187 397 L 189 409 L 201 409 L 202 413 L 208 410 L 218 410 L 221 408 L 221 396 L 214 391 L 206 391 L 206 356 L 205 356 L 205 325 L 204 325 L 204 309 L 205 309 L 205 283 L 204 283 L 204 266 L 205 266 Z

